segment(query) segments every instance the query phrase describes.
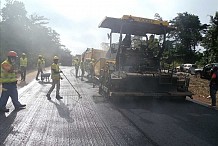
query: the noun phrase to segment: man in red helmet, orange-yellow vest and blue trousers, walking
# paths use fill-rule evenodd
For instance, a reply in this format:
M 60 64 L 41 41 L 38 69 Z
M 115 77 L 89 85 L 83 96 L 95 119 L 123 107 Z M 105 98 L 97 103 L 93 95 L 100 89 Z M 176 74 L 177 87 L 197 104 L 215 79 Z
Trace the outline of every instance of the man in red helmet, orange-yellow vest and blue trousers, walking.
M 3 112 L 9 112 L 9 109 L 6 108 L 9 96 L 11 97 L 15 109 L 26 107 L 25 104 L 21 104 L 18 101 L 17 70 L 15 68 L 17 53 L 9 51 L 7 57 L 8 58 L 1 64 L 2 94 L 0 98 L 0 111 Z

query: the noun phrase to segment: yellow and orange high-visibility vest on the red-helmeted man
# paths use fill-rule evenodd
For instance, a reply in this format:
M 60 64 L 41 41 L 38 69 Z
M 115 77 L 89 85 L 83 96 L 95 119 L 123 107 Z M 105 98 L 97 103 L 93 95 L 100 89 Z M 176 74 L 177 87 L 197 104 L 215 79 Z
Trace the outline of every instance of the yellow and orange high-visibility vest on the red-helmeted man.
M 1 82 L 2 83 L 12 83 L 17 81 L 16 73 L 12 70 L 11 72 L 8 72 L 8 70 L 11 70 L 12 64 L 5 60 L 1 64 Z

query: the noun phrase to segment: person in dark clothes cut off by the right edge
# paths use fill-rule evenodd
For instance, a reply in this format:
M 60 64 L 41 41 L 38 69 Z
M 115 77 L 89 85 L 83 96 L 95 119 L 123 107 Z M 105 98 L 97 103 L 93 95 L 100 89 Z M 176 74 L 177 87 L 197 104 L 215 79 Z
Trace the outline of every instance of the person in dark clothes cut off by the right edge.
M 212 100 L 211 106 L 216 107 L 216 92 L 218 90 L 218 67 L 214 66 L 211 73 L 212 73 L 211 80 L 210 80 L 210 97 Z

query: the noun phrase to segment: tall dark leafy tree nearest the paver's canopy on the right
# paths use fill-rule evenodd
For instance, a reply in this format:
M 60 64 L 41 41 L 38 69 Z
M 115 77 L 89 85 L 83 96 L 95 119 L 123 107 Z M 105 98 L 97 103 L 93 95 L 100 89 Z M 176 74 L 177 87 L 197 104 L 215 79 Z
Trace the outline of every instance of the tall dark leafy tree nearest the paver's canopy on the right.
M 171 21 L 176 28 L 170 34 L 170 39 L 174 41 L 174 49 L 179 56 L 183 56 L 182 62 L 195 63 L 196 46 L 202 40 L 202 31 L 206 29 L 205 25 L 200 23 L 198 16 L 193 14 L 178 13 L 178 16 Z

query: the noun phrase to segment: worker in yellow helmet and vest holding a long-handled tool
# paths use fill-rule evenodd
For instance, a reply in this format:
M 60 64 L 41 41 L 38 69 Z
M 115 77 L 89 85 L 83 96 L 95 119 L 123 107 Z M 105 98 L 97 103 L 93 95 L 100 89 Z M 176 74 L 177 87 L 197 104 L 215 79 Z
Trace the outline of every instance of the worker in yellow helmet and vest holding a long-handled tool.
M 60 76 L 60 73 L 62 73 L 62 71 L 59 68 L 58 65 L 58 60 L 59 58 L 57 56 L 54 56 L 53 58 L 53 64 L 51 65 L 51 79 L 52 79 L 52 86 L 50 88 L 50 90 L 48 91 L 46 97 L 48 100 L 51 100 L 51 92 L 54 90 L 55 85 L 56 85 L 56 99 L 63 99 L 63 97 L 60 96 L 59 91 L 60 91 L 60 79 L 62 79 L 62 77 Z

